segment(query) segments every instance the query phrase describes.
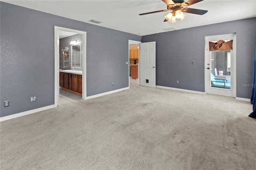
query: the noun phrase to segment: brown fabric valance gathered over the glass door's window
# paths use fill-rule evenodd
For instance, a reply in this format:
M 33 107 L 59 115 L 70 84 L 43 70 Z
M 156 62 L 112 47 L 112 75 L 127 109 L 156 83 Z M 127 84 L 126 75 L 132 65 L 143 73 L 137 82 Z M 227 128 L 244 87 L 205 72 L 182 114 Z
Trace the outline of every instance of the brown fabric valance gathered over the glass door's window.
M 233 40 L 225 42 L 224 40 L 219 40 L 218 42 L 209 42 L 210 51 L 226 51 L 228 49 L 233 49 Z

